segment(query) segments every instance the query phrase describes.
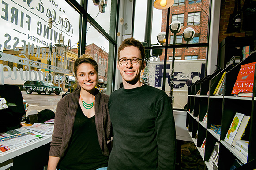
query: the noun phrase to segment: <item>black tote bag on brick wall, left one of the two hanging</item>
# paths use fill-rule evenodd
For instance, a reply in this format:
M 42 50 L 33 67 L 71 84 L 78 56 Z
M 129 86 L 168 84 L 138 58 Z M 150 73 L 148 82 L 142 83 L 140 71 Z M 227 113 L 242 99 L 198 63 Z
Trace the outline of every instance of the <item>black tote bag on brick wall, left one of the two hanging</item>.
M 227 33 L 240 32 L 241 28 L 241 5 L 240 0 L 235 0 L 235 8 L 233 14 L 230 14 L 229 24 L 227 28 Z

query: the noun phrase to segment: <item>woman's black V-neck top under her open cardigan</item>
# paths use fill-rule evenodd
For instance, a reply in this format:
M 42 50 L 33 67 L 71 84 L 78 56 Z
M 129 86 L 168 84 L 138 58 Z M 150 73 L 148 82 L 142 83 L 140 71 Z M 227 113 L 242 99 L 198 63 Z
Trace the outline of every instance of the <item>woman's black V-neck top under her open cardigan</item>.
M 99 145 L 95 116 L 88 118 L 78 106 L 70 145 L 60 161 L 61 170 L 95 170 L 108 166 Z

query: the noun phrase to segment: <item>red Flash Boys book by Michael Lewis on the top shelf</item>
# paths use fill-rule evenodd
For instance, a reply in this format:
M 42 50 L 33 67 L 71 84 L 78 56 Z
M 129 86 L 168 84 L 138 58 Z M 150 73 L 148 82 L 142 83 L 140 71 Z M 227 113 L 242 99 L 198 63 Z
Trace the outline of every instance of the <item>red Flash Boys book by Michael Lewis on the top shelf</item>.
M 245 91 L 252 92 L 255 63 L 256 62 L 241 65 L 231 94 L 237 95 L 238 93 Z

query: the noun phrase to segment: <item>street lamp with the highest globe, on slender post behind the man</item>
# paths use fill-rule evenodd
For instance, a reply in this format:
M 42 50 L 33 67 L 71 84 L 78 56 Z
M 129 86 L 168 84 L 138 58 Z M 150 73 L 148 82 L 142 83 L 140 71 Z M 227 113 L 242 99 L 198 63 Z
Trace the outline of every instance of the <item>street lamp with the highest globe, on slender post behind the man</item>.
M 173 33 L 173 45 L 176 45 L 176 34 L 181 31 L 181 22 L 179 21 L 173 21 L 170 25 L 170 30 Z M 173 78 L 174 78 L 174 60 L 175 60 L 175 48 L 173 48 L 173 59 L 172 59 L 172 72 L 171 72 L 171 90 L 170 90 L 170 98 L 172 102 L 172 107 L 173 107 L 173 101 L 174 101 L 174 96 L 173 96 Z

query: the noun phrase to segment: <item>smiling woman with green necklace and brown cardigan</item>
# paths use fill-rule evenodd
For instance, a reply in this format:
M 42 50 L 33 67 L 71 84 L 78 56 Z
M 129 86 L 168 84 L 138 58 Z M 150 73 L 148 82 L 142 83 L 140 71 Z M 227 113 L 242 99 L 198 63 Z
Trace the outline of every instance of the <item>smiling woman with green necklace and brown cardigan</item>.
M 109 96 L 95 88 L 98 65 L 84 54 L 74 62 L 79 87 L 58 102 L 48 170 L 106 170 L 111 136 Z M 102 169 L 103 168 L 103 169 Z

